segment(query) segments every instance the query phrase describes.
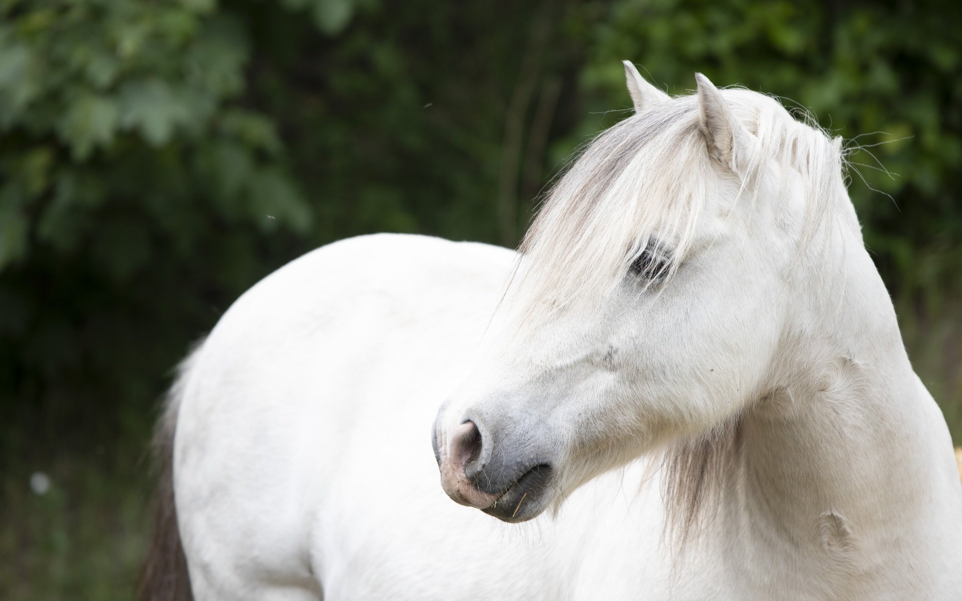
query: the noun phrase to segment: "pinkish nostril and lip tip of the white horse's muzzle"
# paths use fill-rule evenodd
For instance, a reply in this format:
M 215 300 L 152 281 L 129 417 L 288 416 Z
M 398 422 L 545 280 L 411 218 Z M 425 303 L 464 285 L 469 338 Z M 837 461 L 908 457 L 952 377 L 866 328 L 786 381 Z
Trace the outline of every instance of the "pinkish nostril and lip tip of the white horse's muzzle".
M 475 488 L 475 480 L 485 468 L 485 446 L 481 430 L 471 420 L 465 420 L 454 429 L 449 438 L 446 453 L 436 451 L 441 457 L 441 485 L 449 497 L 477 508 L 494 504 L 496 495 Z M 435 445 L 437 448 L 437 440 Z

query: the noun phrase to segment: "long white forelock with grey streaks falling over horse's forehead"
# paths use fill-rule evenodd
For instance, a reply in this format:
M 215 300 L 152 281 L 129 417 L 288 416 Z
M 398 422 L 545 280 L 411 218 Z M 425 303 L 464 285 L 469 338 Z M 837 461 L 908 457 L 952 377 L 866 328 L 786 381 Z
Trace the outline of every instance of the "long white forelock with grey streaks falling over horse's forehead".
M 704 196 L 670 164 L 671 154 L 686 162 L 699 136 L 695 105 L 686 104 L 666 103 L 609 128 L 550 190 L 520 246 L 525 264 L 514 288 L 525 317 L 609 290 L 656 234 L 671 245 L 670 270 L 681 262 Z

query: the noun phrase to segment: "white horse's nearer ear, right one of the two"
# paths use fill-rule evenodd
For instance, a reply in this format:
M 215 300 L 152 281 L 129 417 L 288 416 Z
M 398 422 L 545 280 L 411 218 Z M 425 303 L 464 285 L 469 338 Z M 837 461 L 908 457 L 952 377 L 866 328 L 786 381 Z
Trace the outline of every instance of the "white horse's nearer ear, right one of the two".
M 735 118 L 722 98 L 719 88 L 701 73 L 695 74 L 698 84 L 698 128 L 708 144 L 708 154 L 738 173 L 752 145 L 751 134 L 745 124 Z

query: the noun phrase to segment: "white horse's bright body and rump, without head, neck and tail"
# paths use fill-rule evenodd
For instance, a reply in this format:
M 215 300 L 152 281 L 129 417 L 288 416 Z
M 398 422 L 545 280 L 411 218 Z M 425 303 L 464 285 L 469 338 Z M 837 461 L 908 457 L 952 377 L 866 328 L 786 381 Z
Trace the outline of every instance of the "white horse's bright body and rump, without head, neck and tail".
M 467 375 L 513 260 L 437 238 L 353 238 L 232 307 L 183 376 L 176 488 L 198 599 L 316 599 L 321 589 L 325 599 L 858 598 L 825 582 L 824 565 L 802 570 L 811 554 L 843 572 L 847 546 L 865 543 L 857 527 L 812 516 L 823 546 L 795 541 L 786 569 L 784 524 L 743 504 L 753 497 L 741 469 L 724 486 L 738 502 L 680 558 L 663 540 L 664 474 L 645 460 L 526 524 L 451 503 L 425 424 Z M 758 419 L 779 444 L 794 442 Z M 811 449 L 789 455 L 802 453 Z M 940 533 L 953 545 L 949 532 L 927 533 L 913 559 Z M 919 569 L 879 561 L 901 583 Z M 949 578 L 943 563 L 925 579 Z

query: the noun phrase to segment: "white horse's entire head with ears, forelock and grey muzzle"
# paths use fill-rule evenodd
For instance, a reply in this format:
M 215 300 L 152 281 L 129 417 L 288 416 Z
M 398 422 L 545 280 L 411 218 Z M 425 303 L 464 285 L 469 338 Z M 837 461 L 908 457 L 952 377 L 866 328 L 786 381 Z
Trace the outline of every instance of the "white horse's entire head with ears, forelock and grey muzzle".
M 769 96 L 697 74 L 671 98 L 625 68 L 635 113 L 549 193 L 435 422 L 444 491 L 505 521 L 779 388 L 824 249 L 861 244 L 838 139 Z

